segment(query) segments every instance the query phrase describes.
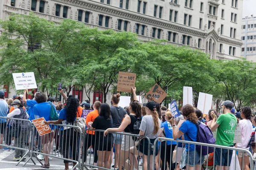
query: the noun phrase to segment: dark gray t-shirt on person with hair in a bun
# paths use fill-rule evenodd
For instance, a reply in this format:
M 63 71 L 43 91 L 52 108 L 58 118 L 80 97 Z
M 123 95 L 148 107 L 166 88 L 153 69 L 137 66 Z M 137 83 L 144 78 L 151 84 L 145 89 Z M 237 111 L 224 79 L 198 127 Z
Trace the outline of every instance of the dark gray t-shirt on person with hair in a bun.
M 111 106 L 111 116 L 113 119 L 113 128 L 119 127 L 122 123 L 122 119 L 127 114 L 125 109 L 122 107 Z

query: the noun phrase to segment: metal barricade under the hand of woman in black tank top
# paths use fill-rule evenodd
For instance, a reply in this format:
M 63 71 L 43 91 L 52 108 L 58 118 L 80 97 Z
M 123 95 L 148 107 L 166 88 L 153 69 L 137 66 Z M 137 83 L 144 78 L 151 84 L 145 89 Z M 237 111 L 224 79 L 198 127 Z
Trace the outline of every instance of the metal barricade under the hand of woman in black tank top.
M 152 145 L 150 144 L 150 139 L 148 137 L 134 135 L 131 133 L 119 133 L 119 132 L 111 132 L 111 133 L 109 132 L 105 138 L 100 137 L 100 136 L 103 136 L 104 131 L 105 130 L 95 130 L 95 129 L 86 129 L 85 130 L 84 138 L 83 138 L 83 152 L 82 152 L 82 161 L 84 162 L 83 167 L 85 169 L 88 170 L 88 167 L 93 167 L 93 168 L 98 168 L 98 169 L 102 169 L 102 170 L 109 170 L 111 168 L 113 152 L 108 153 L 108 154 L 110 154 L 110 159 L 108 159 L 108 158 L 105 159 L 103 157 L 104 156 L 103 152 L 99 155 L 97 155 L 97 153 L 99 153 L 99 151 L 104 150 L 104 147 L 106 147 L 105 150 L 109 150 L 109 148 L 108 148 L 109 146 L 111 146 L 111 150 L 113 151 L 113 136 L 114 135 L 121 136 L 120 148 L 119 148 L 119 150 L 116 150 L 116 151 L 119 151 L 119 153 L 120 153 L 119 159 L 117 159 L 115 157 L 115 159 L 117 159 L 117 161 L 118 161 L 117 164 L 118 164 L 119 170 L 121 170 L 122 167 L 125 167 L 124 169 L 129 169 L 129 170 L 141 169 L 141 167 L 139 166 L 140 156 L 143 157 L 142 166 L 144 166 L 145 154 L 149 153 L 150 150 L 153 150 Z M 138 150 L 141 151 L 139 153 L 140 156 L 138 156 L 137 148 L 134 147 L 135 141 L 139 137 L 143 139 L 140 142 L 141 144 L 138 146 Z M 143 147 L 143 146 L 146 146 L 146 143 L 148 143 L 148 147 Z M 87 150 L 90 147 L 93 148 L 93 153 L 90 152 L 87 155 Z M 108 157 L 108 155 L 107 155 L 107 157 Z M 150 164 L 149 158 L 150 158 L 150 156 L 147 157 L 147 164 L 145 165 L 147 170 L 149 169 L 149 164 Z M 139 159 L 139 161 L 138 161 L 138 159 Z M 99 160 L 104 160 L 104 161 L 102 163 Z M 96 162 L 98 162 L 98 165 Z M 115 161 L 113 161 L 112 164 L 115 164 Z M 131 167 L 131 168 L 127 168 L 127 166 Z

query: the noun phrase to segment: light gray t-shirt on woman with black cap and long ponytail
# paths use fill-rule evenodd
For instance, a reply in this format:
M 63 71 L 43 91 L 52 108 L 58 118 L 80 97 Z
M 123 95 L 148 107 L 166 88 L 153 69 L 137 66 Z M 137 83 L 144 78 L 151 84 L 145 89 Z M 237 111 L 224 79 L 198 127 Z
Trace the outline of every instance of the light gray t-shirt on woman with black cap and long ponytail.
M 158 130 L 157 134 L 153 134 L 152 133 L 154 131 L 153 117 L 151 115 L 143 116 L 143 118 L 141 120 L 141 124 L 140 124 L 140 130 L 145 132 L 145 136 L 147 136 L 149 139 L 155 139 L 155 138 L 157 138 L 159 131 L 160 131 L 160 127 L 161 127 L 161 121 L 159 118 L 158 118 L 158 123 L 159 123 L 159 130 Z M 152 133 L 152 134 L 149 135 L 150 133 Z

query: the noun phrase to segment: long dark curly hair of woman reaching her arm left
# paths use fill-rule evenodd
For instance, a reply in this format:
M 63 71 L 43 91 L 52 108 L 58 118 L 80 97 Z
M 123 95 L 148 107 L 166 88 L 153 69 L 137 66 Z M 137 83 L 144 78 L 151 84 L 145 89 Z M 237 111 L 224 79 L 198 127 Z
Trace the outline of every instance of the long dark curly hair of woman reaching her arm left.
M 79 107 L 79 102 L 73 95 L 67 98 L 65 110 L 67 111 L 67 122 L 73 123 L 76 119 L 76 113 Z

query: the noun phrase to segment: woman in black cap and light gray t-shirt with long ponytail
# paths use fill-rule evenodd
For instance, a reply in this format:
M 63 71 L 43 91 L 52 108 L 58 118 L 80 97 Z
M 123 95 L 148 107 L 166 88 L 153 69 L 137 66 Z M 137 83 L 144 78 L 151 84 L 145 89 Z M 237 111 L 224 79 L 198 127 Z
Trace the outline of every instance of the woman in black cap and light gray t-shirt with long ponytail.
M 148 140 L 143 138 L 140 141 L 140 145 L 137 147 L 130 148 L 130 158 L 135 155 L 143 155 L 143 170 L 148 169 L 148 156 L 149 156 L 149 169 L 152 170 L 152 161 L 153 156 L 157 156 L 159 151 L 159 146 L 156 145 L 156 155 L 153 155 L 153 148 L 148 153 L 148 145 L 154 145 L 155 139 L 158 137 L 160 132 L 161 121 L 159 119 L 159 115 L 156 111 L 157 106 L 155 102 L 147 102 L 146 104 L 146 113 L 147 116 L 143 116 L 141 125 L 140 125 L 140 136 L 147 136 L 150 139 L 150 144 L 148 144 Z M 139 152 L 138 152 L 139 151 Z M 136 165 L 136 169 L 138 169 L 137 159 L 131 159 L 131 168 L 133 168 L 132 163 Z M 157 162 L 157 160 L 155 160 Z M 157 168 L 158 169 L 158 168 Z

